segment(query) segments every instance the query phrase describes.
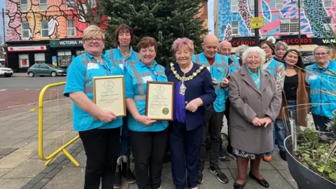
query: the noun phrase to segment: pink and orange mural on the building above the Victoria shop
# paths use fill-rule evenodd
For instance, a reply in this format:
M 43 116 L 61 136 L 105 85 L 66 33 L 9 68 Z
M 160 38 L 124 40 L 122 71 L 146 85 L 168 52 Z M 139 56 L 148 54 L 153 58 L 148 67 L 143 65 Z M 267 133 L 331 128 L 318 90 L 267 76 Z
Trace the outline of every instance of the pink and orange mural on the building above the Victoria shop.
M 20 0 L 6 1 L 6 15 L 8 18 L 7 41 L 22 39 L 22 22 L 29 23 L 30 36 L 27 39 L 48 39 L 80 37 L 88 26 L 78 10 L 66 8 L 67 0 L 48 0 L 46 10 L 40 10 L 39 0 L 27 0 L 27 11 L 20 9 Z M 84 6 L 85 8 L 85 6 Z M 85 9 L 86 10 L 86 9 Z M 66 20 L 74 20 L 75 36 L 67 36 Z M 48 37 L 41 36 L 41 22 L 48 20 Z

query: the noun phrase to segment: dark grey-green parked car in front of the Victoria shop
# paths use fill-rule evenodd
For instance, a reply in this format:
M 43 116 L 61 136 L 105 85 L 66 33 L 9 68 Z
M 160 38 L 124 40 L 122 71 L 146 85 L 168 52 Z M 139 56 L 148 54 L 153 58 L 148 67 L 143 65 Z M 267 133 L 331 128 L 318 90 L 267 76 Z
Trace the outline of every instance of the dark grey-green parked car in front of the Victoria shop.
M 65 76 L 66 75 L 66 70 L 59 68 L 57 66 L 54 66 L 52 64 L 34 64 L 32 65 L 28 71 L 27 74 L 29 77 L 34 77 L 34 76 Z

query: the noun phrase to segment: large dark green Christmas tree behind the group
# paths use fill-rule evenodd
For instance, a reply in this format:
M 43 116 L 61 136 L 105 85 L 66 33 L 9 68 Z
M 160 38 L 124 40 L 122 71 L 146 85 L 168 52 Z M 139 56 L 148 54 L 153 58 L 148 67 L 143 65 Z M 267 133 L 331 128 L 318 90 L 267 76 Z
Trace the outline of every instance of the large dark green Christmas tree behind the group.
M 187 37 L 193 40 L 196 52 L 200 52 L 202 21 L 197 14 L 202 8 L 202 0 L 100 0 L 99 13 L 105 15 L 106 48 L 112 48 L 114 31 L 120 24 L 134 29 L 136 41 L 143 36 L 152 36 L 158 41 L 156 61 L 166 65 L 174 61 L 172 43 L 176 38 Z M 135 43 L 134 45 L 136 45 Z

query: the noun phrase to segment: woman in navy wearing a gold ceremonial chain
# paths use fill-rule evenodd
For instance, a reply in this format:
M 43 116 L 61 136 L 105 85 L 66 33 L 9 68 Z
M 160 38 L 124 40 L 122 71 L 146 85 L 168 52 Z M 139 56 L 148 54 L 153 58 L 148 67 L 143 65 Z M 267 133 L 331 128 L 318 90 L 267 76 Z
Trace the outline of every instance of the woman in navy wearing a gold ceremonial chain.
M 169 146 L 172 155 L 172 177 L 178 189 L 197 188 L 198 157 L 202 144 L 205 111 L 216 99 L 207 68 L 191 61 L 193 41 L 177 38 L 172 50 L 176 62 L 166 67 L 169 81 L 174 82 L 174 121 Z

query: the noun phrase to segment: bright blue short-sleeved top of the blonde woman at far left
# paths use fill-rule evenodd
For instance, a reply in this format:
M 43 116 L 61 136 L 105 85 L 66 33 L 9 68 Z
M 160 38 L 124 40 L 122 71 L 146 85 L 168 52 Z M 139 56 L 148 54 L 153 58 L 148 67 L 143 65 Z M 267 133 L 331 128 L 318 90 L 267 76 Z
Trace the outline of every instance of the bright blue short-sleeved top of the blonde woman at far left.
M 66 85 L 64 96 L 69 97 L 71 92 L 84 92 L 93 102 L 93 77 L 123 75 L 123 71 L 117 64 L 102 55 L 104 62 L 98 62 L 86 51 L 73 59 L 69 68 L 66 70 Z M 89 113 L 80 109 L 73 102 L 73 130 L 86 131 L 92 129 L 109 129 L 120 127 L 123 124 L 122 118 L 117 118 L 111 123 L 103 123 L 100 120 L 94 120 Z

